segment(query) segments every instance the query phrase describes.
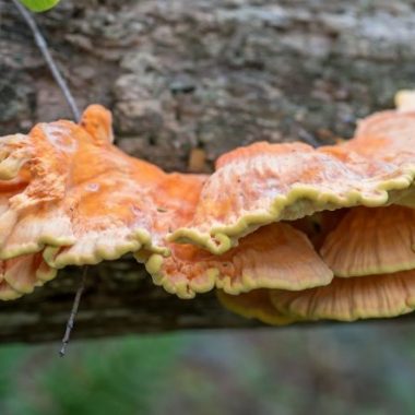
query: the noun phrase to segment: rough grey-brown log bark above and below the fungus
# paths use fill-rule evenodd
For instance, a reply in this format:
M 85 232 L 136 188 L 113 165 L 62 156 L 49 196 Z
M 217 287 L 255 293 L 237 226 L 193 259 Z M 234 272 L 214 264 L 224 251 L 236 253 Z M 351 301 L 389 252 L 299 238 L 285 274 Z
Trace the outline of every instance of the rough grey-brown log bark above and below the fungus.
M 276 4 L 277 3 L 277 4 Z M 258 140 L 331 143 L 415 84 L 415 2 L 62 0 L 36 16 L 80 107 L 114 110 L 117 144 L 167 170 Z M 31 33 L 0 0 L 0 135 L 70 117 Z M 79 273 L 0 305 L 0 340 L 63 330 Z M 91 269 L 83 335 L 249 327 L 214 296 L 180 301 L 131 261 Z

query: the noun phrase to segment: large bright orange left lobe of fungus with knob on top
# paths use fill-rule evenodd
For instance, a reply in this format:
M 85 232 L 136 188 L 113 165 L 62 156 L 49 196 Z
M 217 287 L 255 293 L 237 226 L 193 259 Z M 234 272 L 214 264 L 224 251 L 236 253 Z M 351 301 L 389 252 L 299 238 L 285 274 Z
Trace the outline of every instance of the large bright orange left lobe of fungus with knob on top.
M 165 235 L 190 220 L 204 177 L 165 174 L 111 142 L 110 112 L 97 105 L 80 124 L 0 139 L 0 298 L 16 296 L 7 284 L 28 293 L 66 265 L 168 254 Z

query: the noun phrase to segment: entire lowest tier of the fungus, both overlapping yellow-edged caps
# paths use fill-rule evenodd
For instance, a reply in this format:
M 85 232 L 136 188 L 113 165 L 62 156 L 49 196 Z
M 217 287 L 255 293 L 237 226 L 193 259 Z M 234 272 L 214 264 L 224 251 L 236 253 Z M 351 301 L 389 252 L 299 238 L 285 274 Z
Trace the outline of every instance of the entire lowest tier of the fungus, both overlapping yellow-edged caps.
M 415 270 L 365 277 L 335 277 L 330 285 L 298 292 L 257 289 L 233 296 L 218 292 L 230 311 L 264 323 L 392 318 L 415 309 Z

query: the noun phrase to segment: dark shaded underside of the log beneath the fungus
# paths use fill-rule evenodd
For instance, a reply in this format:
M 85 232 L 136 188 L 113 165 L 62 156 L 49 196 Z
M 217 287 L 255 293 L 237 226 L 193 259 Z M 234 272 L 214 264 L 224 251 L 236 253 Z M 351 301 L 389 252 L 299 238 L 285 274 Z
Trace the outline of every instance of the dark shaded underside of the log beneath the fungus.
M 15 301 L 0 303 L 0 343 L 56 342 L 68 320 L 73 296 L 80 284 L 78 268 L 69 268 L 35 293 Z M 383 320 L 365 320 L 377 324 Z M 387 320 L 391 324 L 414 323 L 413 315 Z M 322 328 L 341 322 L 301 323 Z M 356 324 L 356 323 L 353 323 Z M 72 340 L 206 329 L 264 328 L 257 320 L 240 318 L 221 306 L 215 293 L 183 300 L 156 287 L 144 268 L 133 259 L 88 266 L 88 277 L 76 316 Z M 270 330 L 286 330 L 271 328 Z

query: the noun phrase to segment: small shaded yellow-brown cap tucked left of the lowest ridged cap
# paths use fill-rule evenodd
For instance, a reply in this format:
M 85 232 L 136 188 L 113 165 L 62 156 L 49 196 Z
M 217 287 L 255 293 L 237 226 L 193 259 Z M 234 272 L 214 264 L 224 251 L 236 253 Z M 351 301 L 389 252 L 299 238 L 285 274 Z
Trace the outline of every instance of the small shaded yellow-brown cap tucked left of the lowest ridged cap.
M 280 312 L 272 304 L 270 293 L 270 289 L 254 289 L 230 295 L 216 290 L 217 298 L 225 308 L 247 319 L 258 319 L 272 325 L 286 325 L 299 320 Z

